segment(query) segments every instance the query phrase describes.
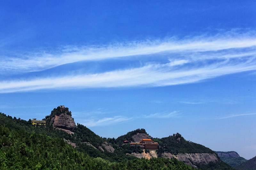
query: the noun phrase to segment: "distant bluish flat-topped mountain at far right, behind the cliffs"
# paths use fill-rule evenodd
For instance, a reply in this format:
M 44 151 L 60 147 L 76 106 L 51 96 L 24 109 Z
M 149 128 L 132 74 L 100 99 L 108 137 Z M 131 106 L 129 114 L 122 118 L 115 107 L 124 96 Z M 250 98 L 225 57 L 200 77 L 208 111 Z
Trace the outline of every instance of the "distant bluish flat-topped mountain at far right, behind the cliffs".
M 230 151 L 230 152 L 220 152 L 216 151 L 220 159 L 227 164 L 236 167 L 244 162 L 247 161 L 247 159 L 244 159 L 243 157 L 240 157 L 239 154 L 235 151 Z

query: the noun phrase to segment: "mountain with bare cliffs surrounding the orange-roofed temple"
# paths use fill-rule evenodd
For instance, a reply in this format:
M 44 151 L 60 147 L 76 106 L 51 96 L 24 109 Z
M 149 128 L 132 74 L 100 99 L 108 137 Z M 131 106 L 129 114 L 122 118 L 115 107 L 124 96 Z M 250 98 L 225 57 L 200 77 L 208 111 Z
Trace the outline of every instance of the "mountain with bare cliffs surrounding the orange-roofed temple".
M 121 145 L 124 143 L 124 141 L 139 142 L 143 138 L 151 138 L 155 142 L 158 142 L 159 148 L 156 151 L 149 151 L 146 153 L 140 151 L 140 148 L 131 151 L 129 146 Z M 122 135 L 116 138 L 116 140 L 109 138 L 109 142 L 112 144 L 119 144 L 123 149 L 123 152 L 138 158 L 175 158 L 195 168 L 235 169 L 225 162 L 222 162 L 219 156 L 211 149 L 201 144 L 187 141 L 179 133 L 173 134 L 169 137 L 153 138 L 147 134 L 145 129 L 136 129 L 134 131 L 128 132 L 126 135 Z

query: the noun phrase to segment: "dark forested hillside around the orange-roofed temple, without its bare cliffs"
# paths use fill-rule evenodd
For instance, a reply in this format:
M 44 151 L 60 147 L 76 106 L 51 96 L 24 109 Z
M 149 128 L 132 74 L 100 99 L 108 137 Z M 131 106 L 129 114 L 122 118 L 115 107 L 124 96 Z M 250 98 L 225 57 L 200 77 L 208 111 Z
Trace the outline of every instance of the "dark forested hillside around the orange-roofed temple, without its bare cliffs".
M 114 138 L 108 138 L 108 142 L 112 143 L 113 146 L 118 146 L 117 149 L 119 149 L 120 151 L 124 152 L 124 153 L 131 153 L 131 152 L 136 152 L 136 153 L 141 153 L 143 152 L 140 147 L 138 146 L 137 148 L 134 148 L 134 146 L 130 146 L 129 144 L 126 145 L 122 145 L 123 141 L 128 140 L 128 141 L 134 141 L 133 140 L 133 136 L 134 135 L 138 135 L 138 133 L 140 134 L 147 134 L 145 129 L 136 129 L 134 131 L 128 132 L 125 135 L 122 135 L 120 137 L 118 137 L 117 139 Z M 149 136 L 150 137 L 150 136 Z M 220 160 L 220 158 L 218 157 L 218 155 L 212 151 L 211 149 L 201 145 L 201 144 L 196 144 L 194 142 L 190 142 L 185 140 L 179 133 L 173 134 L 172 136 L 169 137 L 163 137 L 163 138 L 152 138 L 155 142 L 158 142 L 159 147 L 156 150 L 157 151 L 157 155 L 158 158 L 162 157 L 162 153 L 171 153 L 173 155 L 177 155 L 177 154 L 199 154 L 199 153 L 207 153 L 207 154 L 213 154 L 215 155 L 215 157 L 217 157 L 218 162 L 217 163 L 212 163 L 210 162 L 207 165 L 201 165 L 201 164 L 196 164 L 193 163 L 193 161 L 191 159 L 190 162 L 192 163 L 193 166 L 195 167 L 200 167 L 200 169 L 202 170 L 214 170 L 214 169 L 218 169 L 218 170 L 236 170 L 236 168 L 228 165 L 225 162 L 222 162 Z M 185 155 L 183 155 L 182 157 L 184 157 Z

